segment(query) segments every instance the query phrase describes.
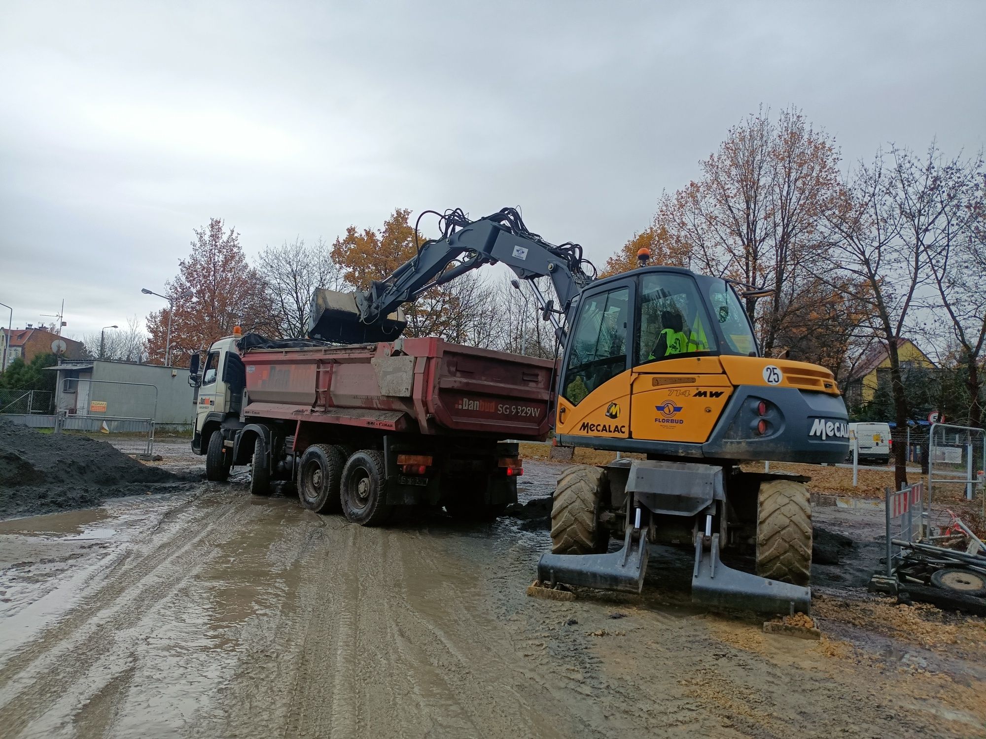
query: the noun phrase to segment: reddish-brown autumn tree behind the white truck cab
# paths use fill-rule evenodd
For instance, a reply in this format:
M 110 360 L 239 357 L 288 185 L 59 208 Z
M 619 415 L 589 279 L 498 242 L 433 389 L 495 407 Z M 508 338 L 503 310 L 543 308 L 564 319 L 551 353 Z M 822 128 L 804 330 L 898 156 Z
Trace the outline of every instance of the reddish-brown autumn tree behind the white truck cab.
M 187 363 L 192 353 L 233 332 L 270 331 L 277 319 L 267 302 L 266 283 L 246 262 L 240 235 L 225 230 L 223 221 L 210 219 L 209 226 L 194 230 L 191 253 L 178 262 L 178 274 L 166 283 L 173 299 L 172 364 Z M 165 361 L 169 308 L 147 316 L 148 354 L 152 362 Z

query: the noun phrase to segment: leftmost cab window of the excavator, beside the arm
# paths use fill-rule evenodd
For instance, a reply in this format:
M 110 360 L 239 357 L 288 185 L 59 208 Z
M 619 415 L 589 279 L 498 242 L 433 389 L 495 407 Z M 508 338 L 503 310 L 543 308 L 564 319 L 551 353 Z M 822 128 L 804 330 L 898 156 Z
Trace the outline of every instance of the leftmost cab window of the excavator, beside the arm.
M 589 393 L 626 370 L 629 288 L 584 299 L 565 368 L 563 395 L 578 405 Z

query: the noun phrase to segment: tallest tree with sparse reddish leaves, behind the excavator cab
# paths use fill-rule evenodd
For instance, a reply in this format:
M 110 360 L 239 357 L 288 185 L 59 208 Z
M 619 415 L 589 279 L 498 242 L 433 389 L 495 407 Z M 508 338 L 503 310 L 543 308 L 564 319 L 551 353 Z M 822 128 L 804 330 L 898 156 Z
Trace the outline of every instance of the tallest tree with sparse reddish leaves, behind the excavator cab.
M 767 355 L 785 350 L 782 336 L 826 292 L 813 267 L 827 248 L 839 162 L 834 141 L 800 111 L 775 120 L 761 108 L 730 129 L 698 179 L 659 202 L 652 232 L 677 263 L 687 256 L 696 271 L 773 291 L 745 298 Z

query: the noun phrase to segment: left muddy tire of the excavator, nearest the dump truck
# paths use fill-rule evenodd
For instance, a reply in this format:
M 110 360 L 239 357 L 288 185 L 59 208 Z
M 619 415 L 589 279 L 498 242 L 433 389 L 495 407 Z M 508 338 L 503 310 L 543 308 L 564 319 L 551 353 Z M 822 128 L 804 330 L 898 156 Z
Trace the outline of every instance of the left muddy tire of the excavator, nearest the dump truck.
M 551 505 L 551 551 L 554 554 L 601 554 L 609 531 L 599 523 L 608 492 L 601 467 L 578 464 L 561 473 Z

